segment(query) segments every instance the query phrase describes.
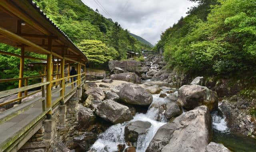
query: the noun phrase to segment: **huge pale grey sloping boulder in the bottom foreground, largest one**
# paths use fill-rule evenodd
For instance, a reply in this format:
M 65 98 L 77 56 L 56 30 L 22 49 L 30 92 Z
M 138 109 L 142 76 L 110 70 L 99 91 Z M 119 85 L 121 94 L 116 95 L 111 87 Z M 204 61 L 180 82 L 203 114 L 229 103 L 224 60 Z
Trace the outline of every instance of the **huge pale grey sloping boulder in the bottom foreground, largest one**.
M 160 127 L 146 152 L 205 152 L 211 132 L 210 112 L 200 106 Z

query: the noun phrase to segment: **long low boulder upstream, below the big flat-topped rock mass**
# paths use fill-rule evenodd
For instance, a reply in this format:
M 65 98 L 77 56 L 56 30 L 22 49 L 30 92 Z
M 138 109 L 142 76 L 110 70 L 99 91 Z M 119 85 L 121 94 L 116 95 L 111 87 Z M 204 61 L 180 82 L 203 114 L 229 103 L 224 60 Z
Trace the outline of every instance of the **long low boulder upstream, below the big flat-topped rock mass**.
M 132 72 L 112 74 L 110 78 L 112 80 L 122 80 L 126 82 L 140 84 L 140 77 L 136 73 L 132 73 Z

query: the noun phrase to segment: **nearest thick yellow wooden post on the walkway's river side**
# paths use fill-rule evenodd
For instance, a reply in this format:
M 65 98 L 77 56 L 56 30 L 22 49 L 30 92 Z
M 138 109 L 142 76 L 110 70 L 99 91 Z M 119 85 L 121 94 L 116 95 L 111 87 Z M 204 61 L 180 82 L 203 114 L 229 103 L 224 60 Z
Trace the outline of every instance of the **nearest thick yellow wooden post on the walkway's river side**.
M 52 52 L 52 39 L 48 38 L 48 51 Z M 46 108 L 50 111 L 46 114 L 47 118 L 52 118 L 52 54 L 47 54 L 47 76 L 46 81 Z

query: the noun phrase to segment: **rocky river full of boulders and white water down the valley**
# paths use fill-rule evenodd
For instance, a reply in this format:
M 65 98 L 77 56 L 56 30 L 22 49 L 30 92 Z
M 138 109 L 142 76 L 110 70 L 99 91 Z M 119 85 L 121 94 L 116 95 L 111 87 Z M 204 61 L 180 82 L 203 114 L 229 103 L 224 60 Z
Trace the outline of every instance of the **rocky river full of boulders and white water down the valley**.
M 74 138 L 76 151 L 256 151 L 256 140 L 241 133 L 245 128 L 254 137 L 251 116 L 240 116 L 236 126 L 230 122 L 234 104 L 206 87 L 203 77 L 166 75 L 161 70 L 165 64 L 161 57 L 142 64 L 116 61 L 110 63 L 115 73 L 110 79 L 86 83 L 79 106 L 81 136 Z

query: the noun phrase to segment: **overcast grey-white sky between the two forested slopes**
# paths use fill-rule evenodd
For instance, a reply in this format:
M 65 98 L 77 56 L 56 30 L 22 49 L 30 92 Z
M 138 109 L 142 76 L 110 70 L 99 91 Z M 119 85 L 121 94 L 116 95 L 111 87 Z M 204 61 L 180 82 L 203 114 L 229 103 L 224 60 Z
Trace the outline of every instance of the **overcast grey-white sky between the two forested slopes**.
M 188 0 L 82 0 L 84 3 L 99 10 L 106 18 L 110 18 L 106 11 L 122 28 L 141 36 L 153 45 L 160 40 L 160 34 L 166 28 L 178 22 L 181 16 L 186 16 L 188 8 L 194 3 Z M 106 9 L 104 12 L 96 4 L 100 2 Z M 99 4 L 99 5 L 100 5 Z

